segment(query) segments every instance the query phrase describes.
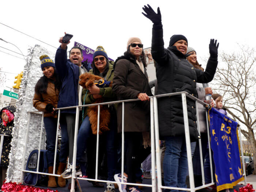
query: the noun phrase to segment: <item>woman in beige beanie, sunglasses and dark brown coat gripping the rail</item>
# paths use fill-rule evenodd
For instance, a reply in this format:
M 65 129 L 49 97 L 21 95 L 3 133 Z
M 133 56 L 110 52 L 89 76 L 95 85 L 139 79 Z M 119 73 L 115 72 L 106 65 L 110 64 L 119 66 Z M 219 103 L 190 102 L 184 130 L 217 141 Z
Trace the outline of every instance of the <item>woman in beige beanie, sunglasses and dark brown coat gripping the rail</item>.
M 127 42 L 127 51 L 118 57 L 114 64 L 114 79 L 112 89 L 118 100 L 136 99 L 140 101 L 124 103 L 124 140 L 125 169 L 128 175 L 127 182 L 136 182 L 137 167 L 150 154 L 150 86 L 146 71 L 146 56 L 143 52 L 142 41 L 138 37 L 131 37 Z M 122 103 L 117 106 L 118 132 L 122 132 Z M 120 181 L 121 175 L 116 174 L 115 180 Z M 125 179 L 126 180 L 126 179 Z M 137 186 L 131 185 L 119 190 L 140 191 Z

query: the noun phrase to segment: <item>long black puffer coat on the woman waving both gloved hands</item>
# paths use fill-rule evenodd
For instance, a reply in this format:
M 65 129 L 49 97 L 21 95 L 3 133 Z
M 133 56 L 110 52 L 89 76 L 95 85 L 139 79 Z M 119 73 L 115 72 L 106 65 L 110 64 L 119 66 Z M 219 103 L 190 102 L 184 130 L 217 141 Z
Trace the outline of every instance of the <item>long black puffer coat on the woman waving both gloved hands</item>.
M 151 54 L 157 62 L 157 94 L 187 91 L 197 97 L 196 82 L 208 83 L 215 74 L 218 61 L 210 57 L 205 72 L 195 69 L 176 46 L 164 48 L 163 29 L 153 26 Z M 191 141 L 198 138 L 196 130 L 196 106 L 187 98 L 187 112 Z M 160 139 L 166 136 L 184 136 L 184 118 L 181 95 L 158 99 L 158 123 Z

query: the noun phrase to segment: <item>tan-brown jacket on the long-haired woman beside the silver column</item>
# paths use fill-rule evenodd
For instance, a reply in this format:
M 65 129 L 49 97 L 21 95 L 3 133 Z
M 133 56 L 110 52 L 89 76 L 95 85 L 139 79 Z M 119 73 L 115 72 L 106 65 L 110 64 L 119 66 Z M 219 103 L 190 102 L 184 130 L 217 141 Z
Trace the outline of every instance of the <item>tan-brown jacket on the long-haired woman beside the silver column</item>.
M 46 90 L 46 94 L 45 93 L 42 93 L 42 94 L 35 93 L 34 94 L 33 106 L 38 111 L 45 112 L 44 117 L 57 118 L 56 113 L 52 114 L 52 113 L 47 112 L 45 110 L 45 107 L 48 103 L 50 103 L 54 106 L 54 108 L 57 108 L 58 100 L 59 100 L 59 90 L 55 89 L 54 84 L 52 82 L 48 81 L 48 87 Z

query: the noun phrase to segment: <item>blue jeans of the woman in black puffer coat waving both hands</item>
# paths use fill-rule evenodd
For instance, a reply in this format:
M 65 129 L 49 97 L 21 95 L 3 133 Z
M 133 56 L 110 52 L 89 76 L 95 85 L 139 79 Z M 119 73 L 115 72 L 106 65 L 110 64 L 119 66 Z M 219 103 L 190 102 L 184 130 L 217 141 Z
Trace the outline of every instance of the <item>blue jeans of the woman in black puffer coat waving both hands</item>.
M 187 148 L 185 137 L 169 136 L 165 139 L 166 151 L 163 158 L 163 179 L 167 187 L 186 188 L 188 170 Z M 166 189 L 178 192 L 180 190 Z

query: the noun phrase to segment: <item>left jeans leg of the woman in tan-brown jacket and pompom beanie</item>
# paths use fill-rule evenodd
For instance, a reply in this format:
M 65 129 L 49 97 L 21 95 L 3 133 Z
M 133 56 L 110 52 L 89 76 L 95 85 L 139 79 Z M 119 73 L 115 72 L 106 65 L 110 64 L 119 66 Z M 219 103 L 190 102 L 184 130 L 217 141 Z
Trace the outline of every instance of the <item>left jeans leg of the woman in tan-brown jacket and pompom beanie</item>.
M 47 137 L 47 162 L 48 167 L 53 166 L 54 163 L 54 151 L 57 133 L 57 118 L 44 117 L 45 132 Z

